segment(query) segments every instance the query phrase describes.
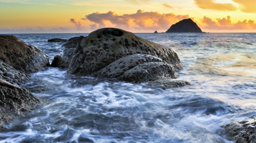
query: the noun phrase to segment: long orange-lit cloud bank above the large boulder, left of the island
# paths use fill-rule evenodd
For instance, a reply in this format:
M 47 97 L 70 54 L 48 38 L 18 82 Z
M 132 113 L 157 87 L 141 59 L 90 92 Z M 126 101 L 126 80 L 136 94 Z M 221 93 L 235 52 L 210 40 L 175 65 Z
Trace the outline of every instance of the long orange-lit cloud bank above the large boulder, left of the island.
M 135 14 L 119 15 L 117 12 L 94 12 L 86 15 L 84 20 L 89 20 L 97 28 L 117 27 L 122 29 L 164 30 L 170 28 L 177 21 L 188 19 L 189 15 L 160 14 L 160 12 L 145 12 L 138 10 Z M 193 18 L 192 18 L 193 19 Z M 96 25 L 93 25 L 96 28 Z

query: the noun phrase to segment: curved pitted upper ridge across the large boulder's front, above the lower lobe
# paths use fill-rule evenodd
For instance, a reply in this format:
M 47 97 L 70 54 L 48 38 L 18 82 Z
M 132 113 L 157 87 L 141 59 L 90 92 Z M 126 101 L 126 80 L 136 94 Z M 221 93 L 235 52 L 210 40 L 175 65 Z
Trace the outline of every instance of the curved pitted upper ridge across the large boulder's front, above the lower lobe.
M 128 55 L 121 59 L 115 60 L 115 62 L 109 64 L 105 68 L 102 68 L 100 71 L 93 74 L 94 77 L 98 78 L 117 78 L 123 73 L 138 64 L 143 64 L 147 62 L 162 62 L 163 60 L 152 55 L 146 54 L 135 54 L 135 55 Z

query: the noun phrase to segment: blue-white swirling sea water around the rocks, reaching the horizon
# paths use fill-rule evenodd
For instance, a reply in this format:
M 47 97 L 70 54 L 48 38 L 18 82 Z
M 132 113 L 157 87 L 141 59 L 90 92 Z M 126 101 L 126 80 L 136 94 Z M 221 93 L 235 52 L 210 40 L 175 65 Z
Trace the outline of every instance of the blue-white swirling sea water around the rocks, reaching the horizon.
M 256 116 L 255 33 L 136 33 L 179 55 L 178 79 L 192 85 L 152 89 L 146 83 L 68 75 L 47 67 L 22 85 L 49 105 L 5 126 L 0 142 L 232 142 L 221 127 Z M 88 34 L 15 34 L 53 57 Z

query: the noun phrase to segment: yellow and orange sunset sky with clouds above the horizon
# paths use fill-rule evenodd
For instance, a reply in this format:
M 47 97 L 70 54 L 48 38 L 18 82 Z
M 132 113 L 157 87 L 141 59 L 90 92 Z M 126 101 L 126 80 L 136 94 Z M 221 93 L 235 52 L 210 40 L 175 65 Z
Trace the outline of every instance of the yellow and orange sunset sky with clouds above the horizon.
M 0 0 L 0 34 L 166 32 L 191 18 L 204 32 L 256 32 L 256 0 Z

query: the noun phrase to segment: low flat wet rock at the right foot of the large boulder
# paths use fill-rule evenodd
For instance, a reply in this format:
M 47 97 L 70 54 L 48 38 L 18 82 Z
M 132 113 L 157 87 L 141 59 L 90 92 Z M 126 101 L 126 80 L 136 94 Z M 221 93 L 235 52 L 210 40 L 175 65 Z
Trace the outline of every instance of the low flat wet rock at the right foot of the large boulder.
M 168 88 L 177 88 L 185 85 L 191 85 L 191 83 L 185 80 L 162 78 L 155 81 L 150 81 L 148 82 L 148 85 L 151 86 L 151 88 L 168 89 Z

